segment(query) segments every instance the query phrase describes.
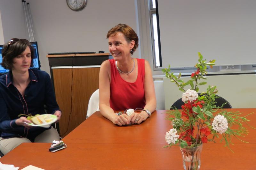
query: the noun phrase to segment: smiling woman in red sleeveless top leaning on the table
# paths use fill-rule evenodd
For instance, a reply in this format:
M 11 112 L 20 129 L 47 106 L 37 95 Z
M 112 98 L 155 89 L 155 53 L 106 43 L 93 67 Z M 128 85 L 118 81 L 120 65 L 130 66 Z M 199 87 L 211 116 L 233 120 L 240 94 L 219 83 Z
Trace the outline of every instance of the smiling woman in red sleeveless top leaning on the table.
M 118 24 L 107 34 L 113 59 L 100 68 L 100 113 L 119 126 L 140 124 L 156 109 L 156 95 L 148 61 L 132 58 L 138 36 L 125 24 Z M 142 108 L 140 113 L 116 115 L 115 110 Z

